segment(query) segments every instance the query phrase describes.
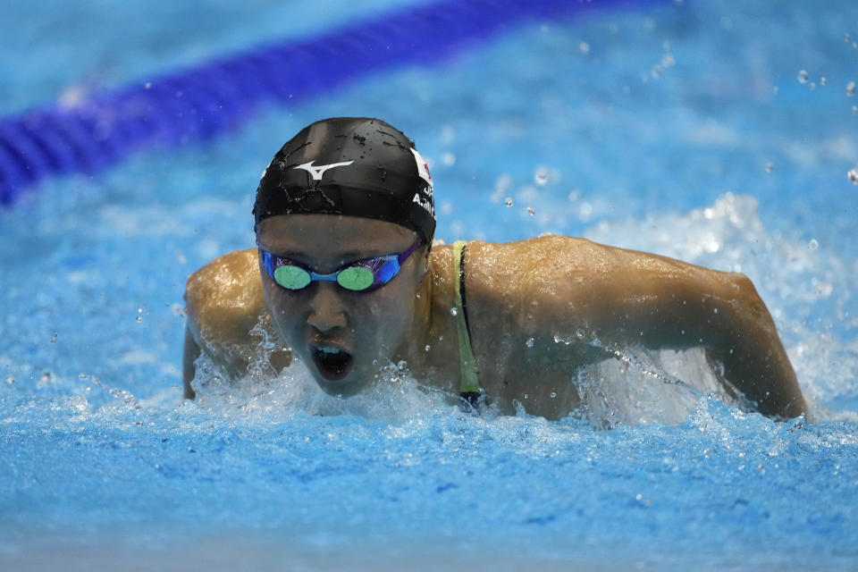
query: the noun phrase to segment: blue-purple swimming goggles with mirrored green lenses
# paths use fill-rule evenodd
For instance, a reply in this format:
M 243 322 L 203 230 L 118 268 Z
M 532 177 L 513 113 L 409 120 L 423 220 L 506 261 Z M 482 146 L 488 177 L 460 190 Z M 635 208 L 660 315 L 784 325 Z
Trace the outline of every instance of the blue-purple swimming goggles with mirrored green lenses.
M 278 257 L 267 250 L 259 247 L 262 257 L 262 265 L 265 272 L 271 276 L 274 282 L 280 284 L 286 290 L 302 290 L 307 288 L 310 282 L 327 281 L 337 282 L 346 290 L 366 292 L 381 288 L 387 282 L 400 273 L 402 263 L 423 242 L 417 239 L 408 250 L 402 254 L 389 254 L 383 257 L 366 258 L 349 262 L 339 270 L 330 274 L 317 274 L 290 258 Z

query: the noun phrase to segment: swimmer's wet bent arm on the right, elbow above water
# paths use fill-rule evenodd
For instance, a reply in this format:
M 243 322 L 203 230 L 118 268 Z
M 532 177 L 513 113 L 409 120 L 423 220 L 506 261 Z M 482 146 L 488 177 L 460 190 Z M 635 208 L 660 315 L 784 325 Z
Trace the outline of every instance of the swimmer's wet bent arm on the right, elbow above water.
M 585 280 L 563 282 L 565 292 L 553 305 L 560 299 L 568 306 L 555 307 L 556 315 L 574 318 L 605 344 L 705 347 L 761 413 L 807 412 L 769 310 L 744 274 L 589 242 L 586 248 L 590 262 L 578 265 Z

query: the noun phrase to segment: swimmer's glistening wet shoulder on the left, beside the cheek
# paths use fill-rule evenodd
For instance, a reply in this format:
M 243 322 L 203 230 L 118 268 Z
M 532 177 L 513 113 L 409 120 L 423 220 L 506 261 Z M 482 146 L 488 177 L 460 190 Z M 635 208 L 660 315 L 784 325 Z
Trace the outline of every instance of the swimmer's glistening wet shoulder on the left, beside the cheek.
M 236 250 L 192 273 L 186 312 L 198 341 L 238 341 L 265 313 L 257 250 Z

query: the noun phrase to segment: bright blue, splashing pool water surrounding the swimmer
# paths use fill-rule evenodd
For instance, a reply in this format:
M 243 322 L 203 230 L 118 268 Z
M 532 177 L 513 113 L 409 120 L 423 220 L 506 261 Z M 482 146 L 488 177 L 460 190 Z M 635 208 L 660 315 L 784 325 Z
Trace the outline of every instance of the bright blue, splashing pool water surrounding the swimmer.
M 0 113 L 426 3 L 211 4 L 205 26 L 4 6 Z M 0 210 L 0 567 L 858 568 L 856 16 L 685 0 L 528 21 L 29 189 Z M 181 400 L 185 279 L 253 245 L 282 142 L 347 114 L 416 140 L 448 242 L 555 232 L 748 274 L 815 422 L 634 367 L 607 431 L 463 415 L 398 370 L 342 401 L 301 368 L 224 388 L 201 364 Z

